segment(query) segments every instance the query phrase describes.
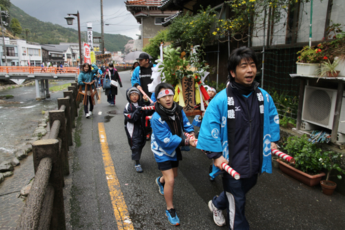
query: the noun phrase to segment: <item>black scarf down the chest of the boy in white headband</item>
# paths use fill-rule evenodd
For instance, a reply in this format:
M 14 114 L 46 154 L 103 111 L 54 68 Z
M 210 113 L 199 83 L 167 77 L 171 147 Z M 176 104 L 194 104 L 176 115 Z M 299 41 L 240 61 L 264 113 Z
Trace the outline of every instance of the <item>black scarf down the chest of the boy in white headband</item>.
M 178 135 L 184 140 L 185 137 L 182 135 L 182 133 L 184 133 L 184 118 L 181 113 L 183 108 L 176 102 L 173 103 L 172 108 L 168 109 L 157 102 L 155 103 L 155 111 L 161 116 L 161 120 L 168 124 L 172 135 Z M 175 120 L 171 119 L 173 115 L 175 115 Z M 181 149 L 177 147 L 175 151 L 177 153 L 177 160 L 182 160 Z

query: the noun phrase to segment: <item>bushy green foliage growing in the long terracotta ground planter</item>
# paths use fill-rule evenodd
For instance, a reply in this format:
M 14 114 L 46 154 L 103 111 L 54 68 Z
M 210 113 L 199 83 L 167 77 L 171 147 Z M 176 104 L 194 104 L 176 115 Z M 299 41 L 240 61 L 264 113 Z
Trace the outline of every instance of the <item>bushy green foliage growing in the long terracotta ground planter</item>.
M 284 143 L 284 149 L 288 155 L 295 158 L 296 169 L 308 174 L 317 174 L 322 169 L 322 163 L 319 161 L 322 156 L 321 148 L 308 142 L 305 134 L 302 137 L 288 137 L 287 142 Z

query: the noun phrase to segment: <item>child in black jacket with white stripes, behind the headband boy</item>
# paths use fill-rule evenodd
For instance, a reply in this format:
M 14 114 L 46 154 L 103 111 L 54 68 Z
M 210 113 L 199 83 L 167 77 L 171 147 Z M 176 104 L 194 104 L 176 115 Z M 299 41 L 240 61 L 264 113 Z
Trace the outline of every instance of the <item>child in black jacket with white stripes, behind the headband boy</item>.
M 126 91 L 128 103 L 124 109 L 125 130 L 128 137 L 128 144 L 132 151 L 132 160 L 135 160 L 135 170 L 142 173 L 143 169 L 139 162 L 141 151 L 146 144 L 146 116 L 151 115 L 155 111 L 143 111 L 141 107 L 149 105 L 148 97 L 141 99 L 140 91 L 131 87 Z

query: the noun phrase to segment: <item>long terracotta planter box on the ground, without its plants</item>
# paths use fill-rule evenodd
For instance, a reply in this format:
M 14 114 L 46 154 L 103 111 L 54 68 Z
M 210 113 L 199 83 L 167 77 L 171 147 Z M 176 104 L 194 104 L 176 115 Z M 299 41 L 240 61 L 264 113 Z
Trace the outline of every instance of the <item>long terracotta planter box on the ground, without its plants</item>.
M 281 159 L 277 159 L 277 162 L 279 162 L 279 168 L 283 173 L 311 187 L 319 184 L 322 177 L 326 175 L 324 172 L 320 172 L 317 175 L 309 175 L 284 163 Z

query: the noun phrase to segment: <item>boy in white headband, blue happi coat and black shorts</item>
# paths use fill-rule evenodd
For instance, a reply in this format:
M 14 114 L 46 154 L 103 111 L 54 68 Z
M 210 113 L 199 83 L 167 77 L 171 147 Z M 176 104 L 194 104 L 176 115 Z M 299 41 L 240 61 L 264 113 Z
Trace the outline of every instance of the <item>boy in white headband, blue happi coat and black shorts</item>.
M 182 160 L 179 146 L 194 146 L 195 140 L 188 140 L 184 132 L 195 137 L 193 125 L 189 123 L 182 107 L 173 101 L 175 90 L 167 83 L 158 84 L 155 88 L 157 103 L 152 115 L 151 149 L 155 155 L 158 169 L 162 176 L 156 179 L 159 193 L 166 200 L 166 216 L 172 225 L 179 225 L 179 218 L 172 204 L 175 178 L 179 160 Z

